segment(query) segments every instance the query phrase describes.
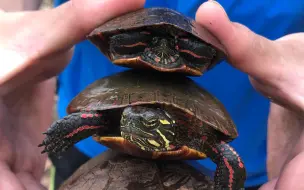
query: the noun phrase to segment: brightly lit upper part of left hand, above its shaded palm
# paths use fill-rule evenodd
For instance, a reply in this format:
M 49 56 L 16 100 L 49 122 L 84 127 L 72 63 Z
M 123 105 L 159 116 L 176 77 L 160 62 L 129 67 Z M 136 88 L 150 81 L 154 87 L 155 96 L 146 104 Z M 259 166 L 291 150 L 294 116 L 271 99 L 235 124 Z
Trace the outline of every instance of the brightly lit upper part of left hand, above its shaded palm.
M 0 66 L 0 95 L 55 76 L 67 65 L 74 44 L 107 20 L 143 4 L 144 0 L 70 0 L 51 10 L 0 11 L 0 57 L 7 63 Z

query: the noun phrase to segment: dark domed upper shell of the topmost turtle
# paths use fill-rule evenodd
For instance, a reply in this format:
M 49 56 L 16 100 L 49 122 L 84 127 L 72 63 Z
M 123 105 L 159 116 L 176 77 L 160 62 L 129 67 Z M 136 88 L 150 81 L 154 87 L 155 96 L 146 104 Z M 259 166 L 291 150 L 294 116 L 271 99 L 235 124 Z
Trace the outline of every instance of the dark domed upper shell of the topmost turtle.
M 105 40 L 113 34 L 143 27 L 149 27 L 155 29 L 155 31 L 162 30 L 166 33 L 172 33 L 173 36 L 177 35 L 178 32 L 180 32 L 181 35 L 192 35 L 197 39 L 215 46 L 215 48 L 219 50 L 217 57 L 214 59 L 215 63 L 225 58 L 223 46 L 210 32 L 195 22 L 195 20 L 167 8 L 155 7 L 140 9 L 116 17 L 93 30 L 88 35 L 88 39 L 93 41 L 106 56 L 109 56 L 108 44 L 106 42 L 101 43 L 101 39 Z M 161 30 L 159 29 L 160 27 L 162 27 Z

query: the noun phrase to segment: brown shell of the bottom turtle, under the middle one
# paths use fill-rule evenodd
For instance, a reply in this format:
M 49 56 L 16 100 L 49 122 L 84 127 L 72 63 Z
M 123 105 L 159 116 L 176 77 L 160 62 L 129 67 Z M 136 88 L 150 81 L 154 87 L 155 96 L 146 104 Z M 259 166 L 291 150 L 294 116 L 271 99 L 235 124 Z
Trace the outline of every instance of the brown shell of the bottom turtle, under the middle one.
M 180 160 L 151 161 L 110 149 L 80 166 L 59 190 L 213 190 L 205 173 Z

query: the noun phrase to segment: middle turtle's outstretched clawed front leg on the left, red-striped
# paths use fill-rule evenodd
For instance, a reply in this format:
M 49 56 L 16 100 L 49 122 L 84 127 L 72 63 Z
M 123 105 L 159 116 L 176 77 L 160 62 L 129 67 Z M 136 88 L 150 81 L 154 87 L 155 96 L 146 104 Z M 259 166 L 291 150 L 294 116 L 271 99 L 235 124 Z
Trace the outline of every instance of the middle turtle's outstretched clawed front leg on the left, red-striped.
M 59 156 L 75 143 L 106 130 L 106 121 L 96 111 L 72 113 L 55 121 L 43 134 L 45 139 L 38 146 L 44 146 L 41 153 Z

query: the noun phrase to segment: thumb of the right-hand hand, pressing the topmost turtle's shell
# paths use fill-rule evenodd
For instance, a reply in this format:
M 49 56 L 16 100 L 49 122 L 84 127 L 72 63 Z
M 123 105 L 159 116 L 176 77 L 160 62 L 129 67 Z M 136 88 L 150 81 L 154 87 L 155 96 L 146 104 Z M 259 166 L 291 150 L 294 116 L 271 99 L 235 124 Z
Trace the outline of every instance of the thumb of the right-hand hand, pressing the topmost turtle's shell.
M 265 74 L 269 76 L 266 72 L 273 68 L 267 69 L 271 65 L 265 62 L 277 55 L 272 41 L 255 34 L 244 25 L 231 22 L 224 8 L 213 0 L 199 7 L 196 20 L 224 46 L 230 64 L 254 78 L 261 79 Z

